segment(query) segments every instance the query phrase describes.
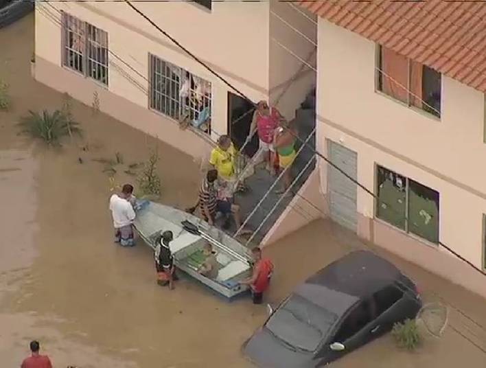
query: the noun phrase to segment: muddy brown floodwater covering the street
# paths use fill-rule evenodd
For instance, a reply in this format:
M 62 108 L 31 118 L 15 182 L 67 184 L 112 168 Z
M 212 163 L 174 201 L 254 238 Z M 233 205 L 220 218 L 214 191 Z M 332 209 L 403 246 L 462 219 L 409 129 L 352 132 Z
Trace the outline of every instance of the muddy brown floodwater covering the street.
M 227 303 L 185 277 L 174 291 L 161 288 L 148 246 L 113 244 L 108 212 L 113 185 L 96 160 L 119 152 L 124 163 L 117 167 L 117 184 L 135 183 L 126 165 L 146 161 L 157 147 L 161 200 L 181 208 L 196 200 L 198 163 L 76 101 L 72 113 L 82 138 L 49 148 L 18 135 L 16 123 L 28 110 L 62 106 L 62 94 L 30 76 L 33 19 L 0 30 L 0 79 L 10 84 L 12 95 L 10 111 L 0 111 L 1 366 L 18 367 L 36 338 L 55 367 L 251 367 L 240 347 L 265 321 L 264 306 L 246 299 Z M 325 220 L 270 246 L 266 252 L 277 271 L 269 301 L 280 301 L 354 246 L 362 244 Z M 465 359 L 467 367 L 484 367 L 485 354 L 463 337 L 486 347 L 478 327 L 486 325 L 484 299 L 398 262 L 422 287 L 474 316 L 476 324 L 455 310 L 454 328 L 439 340 L 428 339 L 418 352 L 400 351 L 387 335 L 333 367 L 453 368 Z

